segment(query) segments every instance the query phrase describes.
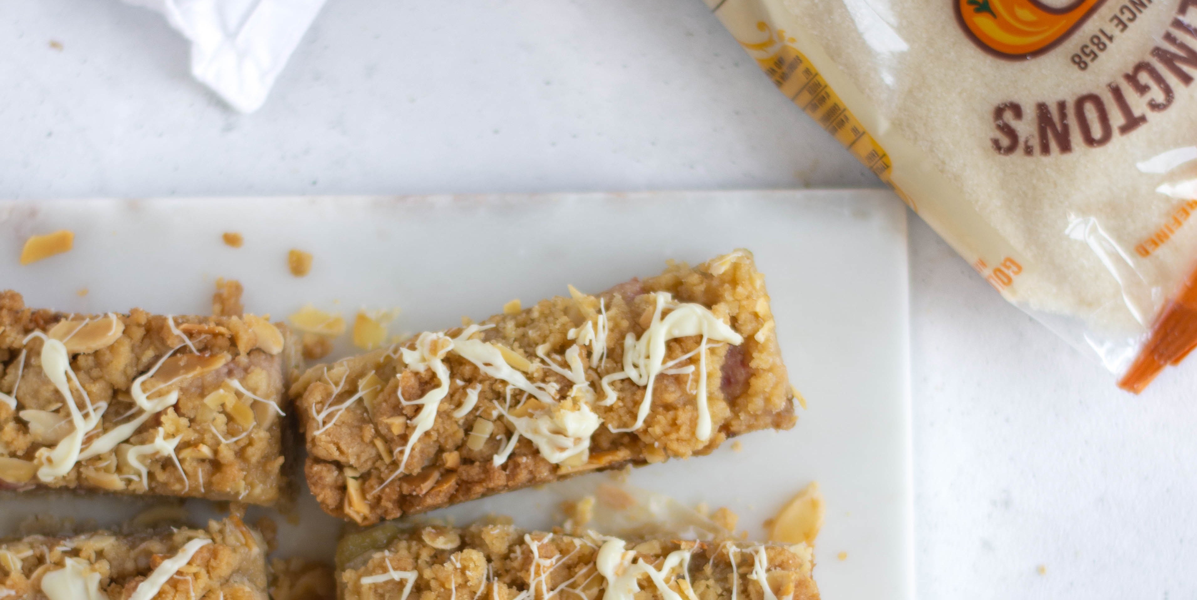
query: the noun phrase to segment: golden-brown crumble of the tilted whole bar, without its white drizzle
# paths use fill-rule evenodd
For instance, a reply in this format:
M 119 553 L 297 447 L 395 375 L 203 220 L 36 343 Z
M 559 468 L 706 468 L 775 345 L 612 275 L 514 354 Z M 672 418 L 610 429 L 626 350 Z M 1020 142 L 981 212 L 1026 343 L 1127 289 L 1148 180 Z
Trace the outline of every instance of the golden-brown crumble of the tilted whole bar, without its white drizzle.
M 546 355 L 554 363 L 564 365 L 566 349 L 579 348 L 587 381 L 601 394 L 600 380 L 622 369 L 625 335 L 640 336 L 650 325 L 657 302 L 655 292 L 668 292 L 680 302 L 709 308 L 743 337 L 739 345 L 707 344 L 707 394 L 713 425 L 709 439 L 695 435 L 697 373 L 661 374 L 648 418 L 633 431 L 612 429 L 634 424 L 644 387 L 628 379 L 610 384 L 619 400 L 610 406 L 595 403 L 593 410 L 602 425 L 590 437 L 584 463 L 551 463 L 523 437 L 510 457 L 496 465 L 492 459 L 503 452 L 512 434 L 511 422 L 498 410 L 506 405 L 509 386 L 449 353 L 443 359 L 452 380 L 448 396 L 440 402 L 431 429 L 412 445 L 406 466 L 397 473 L 421 409 L 400 398 L 421 398 L 440 381 L 435 369 L 406 368 L 400 349 L 387 348 L 309 369 L 292 386 L 291 396 L 308 447 L 309 486 L 329 514 L 373 524 L 579 472 L 707 454 L 735 435 L 792 427 L 792 396 L 773 332 L 768 294 L 747 251 L 695 268 L 670 263 L 660 276 L 633 280 L 597 296 L 542 300 L 514 314 L 486 319 L 482 325 L 493 327 L 478 336 L 527 359 L 531 368 L 525 375 L 533 384 L 566 391 L 571 381 L 546 368 L 536 353 L 539 348 L 547 349 Z M 576 347 L 567 332 L 596 319 L 601 311 L 609 329 L 607 355 L 593 368 L 589 347 Z M 457 327 L 446 335 L 454 337 L 461 331 Z M 699 336 L 672 339 L 667 360 L 698 350 L 699 344 Z M 409 341 L 403 348 L 413 345 Z M 518 357 L 512 360 L 518 362 Z M 697 368 L 697 359 L 689 362 Z M 377 397 L 354 400 L 371 376 L 377 378 L 381 388 Z M 462 417 L 451 416 L 467 402 L 470 387 L 479 388 L 476 405 Z M 472 433 L 479 430 L 485 436 L 470 440 Z M 353 488 L 360 489 L 360 497 L 352 496 Z

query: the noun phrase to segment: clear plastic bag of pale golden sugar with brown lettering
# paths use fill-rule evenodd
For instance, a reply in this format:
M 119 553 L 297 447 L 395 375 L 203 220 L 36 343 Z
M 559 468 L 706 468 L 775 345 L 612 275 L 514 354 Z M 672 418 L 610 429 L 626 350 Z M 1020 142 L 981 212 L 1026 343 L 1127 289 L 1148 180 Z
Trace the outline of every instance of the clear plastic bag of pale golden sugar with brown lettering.
M 1009 301 L 1144 388 L 1197 345 L 1197 0 L 706 0 Z

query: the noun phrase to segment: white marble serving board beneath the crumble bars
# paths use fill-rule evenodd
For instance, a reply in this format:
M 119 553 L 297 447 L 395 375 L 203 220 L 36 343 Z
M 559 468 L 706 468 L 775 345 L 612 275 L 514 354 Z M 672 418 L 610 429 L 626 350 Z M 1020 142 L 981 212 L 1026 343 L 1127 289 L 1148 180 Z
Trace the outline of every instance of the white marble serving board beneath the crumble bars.
M 20 267 L 30 234 L 69 228 L 74 250 Z M 220 233 L 239 232 L 241 249 Z M 311 274 L 286 269 L 291 247 Z M 713 191 L 420 197 L 163 198 L 0 202 L 0 288 L 72 312 L 206 313 L 217 277 L 245 286 L 249 311 L 275 318 L 312 302 L 352 319 L 401 307 L 393 332 L 479 319 L 519 298 L 598 292 L 664 261 L 747 247 L 773 300 L 778 338 L 806 396 L 790 431 L 740 437 L 710 457 L 636 470 L 630 484 L 761 522 L 810 480 L 827 520 L 816 545 L 824 598 L 912 596 L 906 213 L 889 192 Z M 77 292 L 86 288 L 86 295 Z M 342 343 L 339 355 L 351 351 Z M 596 475 L 590 477 L 607 477 Z M 509 514 L 553 524 L 552 486 L 438 513 L 456 522 Z M 340 524 L 300 491 L 279 555 L 330 557 Z M 0 497 L 0 535 L 28 515 L 110 525 L 145 508 L 117 497 Z M 200 501 L 195 514 L 212 514 Z M 271 514 L 257 509 L 257 514 Z M 277 515 L 275 515 L 277 516 Z M 845 559 L 839 559 L 846 552 Z

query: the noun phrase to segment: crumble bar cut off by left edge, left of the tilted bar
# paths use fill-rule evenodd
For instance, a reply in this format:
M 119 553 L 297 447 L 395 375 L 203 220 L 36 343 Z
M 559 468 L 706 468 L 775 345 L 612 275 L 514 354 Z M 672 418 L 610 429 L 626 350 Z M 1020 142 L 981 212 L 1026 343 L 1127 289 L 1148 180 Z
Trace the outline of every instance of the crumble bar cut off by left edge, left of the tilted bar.
M 251 314 L 84 317 L 0 292 L 0 489 L 273 504 L 288 336 Z

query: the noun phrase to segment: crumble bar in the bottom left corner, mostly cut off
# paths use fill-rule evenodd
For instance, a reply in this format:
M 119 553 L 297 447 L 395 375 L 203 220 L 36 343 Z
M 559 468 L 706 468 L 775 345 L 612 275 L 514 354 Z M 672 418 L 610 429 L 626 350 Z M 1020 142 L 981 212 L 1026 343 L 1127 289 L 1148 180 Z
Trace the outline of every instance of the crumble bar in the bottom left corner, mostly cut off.
M 262 535 L 236 516 L 206 531 L 0 541 L 0 598 L 18 600 L 267 600 L 266 575 Z

